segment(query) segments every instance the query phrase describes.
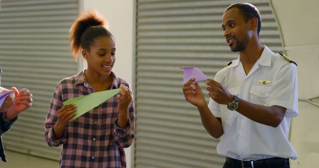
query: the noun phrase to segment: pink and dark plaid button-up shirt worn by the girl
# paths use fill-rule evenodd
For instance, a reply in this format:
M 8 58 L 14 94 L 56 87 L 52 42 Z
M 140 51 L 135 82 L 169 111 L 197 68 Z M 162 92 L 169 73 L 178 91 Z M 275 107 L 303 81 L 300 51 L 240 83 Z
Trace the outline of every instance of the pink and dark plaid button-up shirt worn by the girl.
M 130 147 L 135 137 L 133 99 L 128 109 L 127 128 L 121 129 L 117 125 L 118 103 L 117 97 L 113 96 L 80 117 L 71 119 L 60 139 L 54 136 L 53 126 L 58 119 L 57 111 L 63 106 L 62 102 L 94 92 L 84 71 L 57 84 L 45 121 L 45 140 L 49 146 L 63 144 L 60 168 L 126 168 L 124 148 Z M 117 78 L 113 72 L 111 76 L 113 83 L 108 89 L 124 84 L 133 94 L 130 84 Z

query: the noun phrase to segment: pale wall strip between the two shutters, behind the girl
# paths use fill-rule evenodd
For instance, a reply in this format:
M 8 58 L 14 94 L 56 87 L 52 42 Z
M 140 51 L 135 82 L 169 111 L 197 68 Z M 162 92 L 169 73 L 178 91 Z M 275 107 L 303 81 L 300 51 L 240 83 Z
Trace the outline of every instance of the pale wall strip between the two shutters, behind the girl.
M 81 0 L 81 10 L 95 9 L 109 21 L 115 37 L 116 63 L 113 72 L 133 85 L 133 9 L 134 0 Z M 86 63 L 83 64 L 85 67 Z M 132 167 L 132 146 L 126 151 L 128 168 Z

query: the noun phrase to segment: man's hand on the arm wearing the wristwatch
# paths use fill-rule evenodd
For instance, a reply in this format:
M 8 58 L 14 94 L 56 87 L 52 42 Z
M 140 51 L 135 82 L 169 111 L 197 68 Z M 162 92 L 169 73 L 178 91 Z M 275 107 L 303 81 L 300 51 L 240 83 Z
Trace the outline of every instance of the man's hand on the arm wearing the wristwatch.
M 234 95 L 230 94 L 223 84 L 208 78 L 206 80 L 206 85 L 206 90 L 209 91 L 209 97 L 218 104 L 228 104 L 233 101 Z

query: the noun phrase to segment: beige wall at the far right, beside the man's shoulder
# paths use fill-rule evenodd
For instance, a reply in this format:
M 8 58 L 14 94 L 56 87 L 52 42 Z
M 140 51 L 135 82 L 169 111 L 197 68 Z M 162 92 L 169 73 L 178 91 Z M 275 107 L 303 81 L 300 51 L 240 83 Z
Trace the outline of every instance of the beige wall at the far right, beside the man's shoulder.
M 270 0 L 287 56 L 298 64 L 299 116 L 292 120 L 291 143 L 298 159 L 292 168 L 316 168 L 319 158 L 319 1 Z M 304 100 L 314 99 L 314 105 Z

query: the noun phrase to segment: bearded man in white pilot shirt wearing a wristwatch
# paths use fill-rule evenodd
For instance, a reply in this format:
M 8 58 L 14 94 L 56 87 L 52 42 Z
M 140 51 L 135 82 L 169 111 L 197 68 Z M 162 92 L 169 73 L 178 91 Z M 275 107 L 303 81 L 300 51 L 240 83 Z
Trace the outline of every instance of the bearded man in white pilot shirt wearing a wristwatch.
M 197 106 L 207 132 L 222 136 L 217 152 L 226 156 L 223 168 L 290 168 L 289 159 L 297 159 L 288 140 L 291 118 L 298 115 L 297 67 L 260 44 L 254 5 L 230 5 L 222 28 L 238 59 L 206 80 L 208 105 L 194 79 L 184 84 L 185 99 Z

